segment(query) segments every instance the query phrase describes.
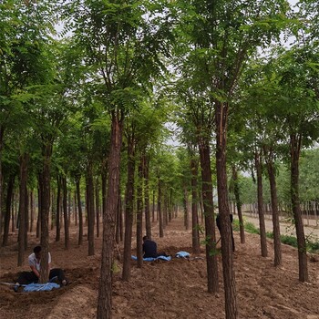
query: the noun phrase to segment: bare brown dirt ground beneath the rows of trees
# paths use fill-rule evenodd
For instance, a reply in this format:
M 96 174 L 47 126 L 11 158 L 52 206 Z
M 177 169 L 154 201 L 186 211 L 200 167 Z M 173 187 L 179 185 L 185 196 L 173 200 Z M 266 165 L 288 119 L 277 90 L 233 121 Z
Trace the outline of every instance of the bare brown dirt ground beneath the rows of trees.
M 236 252 L 234 271 L 238 318 L 251 319 L 319 319 L 319 258 L 309 256 L 310 283 L 298 281 L 297 251 L 283 245 L 283 265 L 273 267 L 273 243 L 268 242 L 269 257 L 262 258 L 258 235 L 246 233 L 240 243 L 234 232 Z M 77 231 L 72 228 L 68 251 L 64 242 L 50 242 L 53 266 L 65 269 L 70 284 L 51 292 L 15 293 L 0 284 L 0 318 L 95 318 L 97 314 L 98 278 L 100 273 L 101 239 L 96 240 L 95 256 L 87 256 L 87 242 L 77 246 Z M 159 250 L 191 252 L 191 233 L 176 219 L 159 238 L 154 223 L 153 239 Z M 32 234 L 29 252 L 38 242 Z M 133 243 L 134 247 L 135 243 Z M 121 252 L 121 247 L 119 247 Z M 28 253 L 26 253 L 26 259 Z M 135 254 L 135 252 L 132 252 Z M 207 293 L 204 247 L 202 259 L 170 262 L 144 262 L 141 269 L 132 261 L 129 283 L 120 280 L 121 262 L 114 276 L 113 318 L 225 318 L 222 266 L 219 256 L 220 292 Z M 28 270 L 27 262 L 17 267 L 16 236 L 10 245 L 0 249 L 0 282 L 14 283 L 17 273 Z

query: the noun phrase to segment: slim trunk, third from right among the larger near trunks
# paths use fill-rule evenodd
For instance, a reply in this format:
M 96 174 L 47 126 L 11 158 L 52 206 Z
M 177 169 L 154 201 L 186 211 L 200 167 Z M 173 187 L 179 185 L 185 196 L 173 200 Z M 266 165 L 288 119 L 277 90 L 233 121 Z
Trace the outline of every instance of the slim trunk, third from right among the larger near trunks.
M 258 216 L 259 216 L 259 231 L 261 233 L 261 250 L 262 257 L 268 256 L 267 239 L 266 239 L 266 225 L 263 214 L 263 198 L 262 198 L 262 160 L 261 154 L 255 152 L 255 168 L 257 174 L 257 201 L 258 201 Z

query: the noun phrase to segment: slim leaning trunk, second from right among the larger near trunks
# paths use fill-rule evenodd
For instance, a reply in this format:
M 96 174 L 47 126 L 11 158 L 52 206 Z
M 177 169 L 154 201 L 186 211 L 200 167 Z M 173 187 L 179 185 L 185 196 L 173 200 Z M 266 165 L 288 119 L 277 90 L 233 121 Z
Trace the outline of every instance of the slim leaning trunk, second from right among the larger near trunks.
M 269 176 L 269 183 L 271 189 L 272 211 L 273 211 L 273 250 L 274 250 L 274 266 L 282 264 L 282 242 L 280 238 L 280 224 L 278 214 L 278 200 L 277 200 L 277 186 L 276 177 L 271 160 L 272 154 L 267 154 L 267 171 Z

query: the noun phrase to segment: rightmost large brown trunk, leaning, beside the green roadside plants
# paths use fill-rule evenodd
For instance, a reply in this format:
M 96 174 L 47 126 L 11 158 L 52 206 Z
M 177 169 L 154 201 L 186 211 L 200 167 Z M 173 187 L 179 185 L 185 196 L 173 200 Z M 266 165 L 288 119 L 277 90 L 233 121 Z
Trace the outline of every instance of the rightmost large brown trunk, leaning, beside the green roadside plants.
M 299 200 L 299 158 L 302 144 L 301 136 L 290 136 L 291 155 L 291 196 L 293 219 L 298 243 L 299 281 L 308 282 L 307 251 L 304 238 L 304 224 Z

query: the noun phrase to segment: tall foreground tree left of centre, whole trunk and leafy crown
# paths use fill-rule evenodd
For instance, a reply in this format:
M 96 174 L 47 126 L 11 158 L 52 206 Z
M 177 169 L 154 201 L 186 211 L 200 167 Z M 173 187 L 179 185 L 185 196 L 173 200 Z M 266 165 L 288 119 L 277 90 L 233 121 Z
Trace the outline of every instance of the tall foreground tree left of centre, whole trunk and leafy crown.
M 98 97 L 111 118 L 108 195 L 98 289 L 98 317 L 108 318 L 111 316 L 113 248 L 124 119 L 129 108 L 138 105 L 137 100 L 143 89 L 149 87 L 149 77 L 160 74 L 160 54 L 168 52 L 170 47 L 166 40 L 168 22 L 164 17 L 149 12 L 147 2 L 75 1 L 67 4 L 68 14 L 71 18 L 69 23 L 76 26 L 74 36 L 77 44 L 84 49 L 84 62 L 89 66 Z M 164 23 L 160 24 L 158 20 Z

